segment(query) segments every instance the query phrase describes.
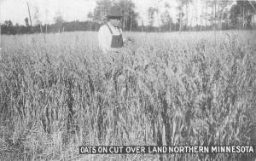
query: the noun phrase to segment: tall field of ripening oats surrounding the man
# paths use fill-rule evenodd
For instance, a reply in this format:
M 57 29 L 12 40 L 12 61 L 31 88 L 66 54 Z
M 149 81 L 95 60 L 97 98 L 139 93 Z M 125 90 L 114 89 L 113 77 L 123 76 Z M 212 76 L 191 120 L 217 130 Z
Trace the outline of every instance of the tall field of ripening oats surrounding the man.
M 79 146 L 247 145 L 256 32 L 1 36 L 0 160 L 231 160 L 238 155 L 79 155 Z M 255 141 L 254 141 L 254 144 Z

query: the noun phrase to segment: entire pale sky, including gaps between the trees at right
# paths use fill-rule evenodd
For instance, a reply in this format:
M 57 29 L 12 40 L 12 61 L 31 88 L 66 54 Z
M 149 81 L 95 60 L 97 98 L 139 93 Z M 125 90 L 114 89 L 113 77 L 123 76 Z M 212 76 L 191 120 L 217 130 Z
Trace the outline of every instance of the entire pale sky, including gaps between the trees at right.
M 177 19 L 177 0 L 131 0 L 136 5 L 136 11 L 139 13 L 139 25 L 148 24 L 149 7 L 158 8 L 161 12 L 165 11 L 165 3 L 171 5 L 169 9 L 172 20 Z M 201 2 L 198 0 L 198 2 Z M 27 3 L 29 4 L 32 16 L 32 23 L 35 23 L 34 15 L 38 10 L 38 20 L 44 23 L 54 23 L 56 13 L 60 13 L 64 20 L 87 20 L 87 14 L 96 7 L 96 0 L 0 0 L 0 23 L 4 20 L 12 20 L 13 24 L 19 23 L 25 25 L 25 18 L 28 16 Z M 202 11 L 201 3 L 197 6 L 191 6 L 192 14 L 200 14 Z M 192 16 L 192 14 L 190 16 Z M 157 15 L 154 15 L 157 16 Z M 157 18 L 154 26 L 158 26 Z

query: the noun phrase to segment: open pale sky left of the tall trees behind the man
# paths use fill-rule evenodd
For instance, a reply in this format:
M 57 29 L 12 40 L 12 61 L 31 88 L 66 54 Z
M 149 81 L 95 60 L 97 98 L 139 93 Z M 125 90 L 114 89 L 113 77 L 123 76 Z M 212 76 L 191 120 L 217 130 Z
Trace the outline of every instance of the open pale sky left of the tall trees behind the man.
M 60 12 L 64 20 L 86 20 L 90 10 L 96 7 L 95 0 L 27 0 L 32 19 L 38 9 L 39 20 L 43 23 L 54 22 L 56 12 Z M 13 23 L 25 25 L 28 17 L 26 0 L 0 0 L 0 21 L 12 20 Z M 33 21 L 33 20 L 32 20 Z

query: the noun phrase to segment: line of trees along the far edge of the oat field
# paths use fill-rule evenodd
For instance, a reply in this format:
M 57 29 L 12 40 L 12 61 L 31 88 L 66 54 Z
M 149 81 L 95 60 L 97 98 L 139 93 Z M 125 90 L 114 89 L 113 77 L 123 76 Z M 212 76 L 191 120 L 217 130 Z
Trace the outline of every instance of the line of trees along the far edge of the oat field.
M 163 3 L 164 8 L 159 9 Z M 135 11 L 136 5 L 131 0 L 97 0 L 96 8 L 87 14 L 86 21 L 63 20 L 57 13 L 53 24 L 42 24 L 38 20 L 38 9 L 34 14 L 35 23 L 26 17 L 25 26 L 13 24 L 11 20 L 5 20 L 1 25 L 1 34 L 27 34 L 49 32 L 74 32 L 74 31 L 98 31 L 106 21 L 105 15 L 112 5 L 119 5 L 123 14 L 123 31 L 130 32 L 175 32 L 175 31 L 206 31 L 229 29 L 253 29 L 255 26 L 256 2 L 243 0 L 236 1 L 228 9 L 231 1 L 212 0 L 202 1 L 201 15 L 196 13 L 197 0 L 177 0 L 177 20 L 172 20 L 170 14 L 172 8 L 168 0 L 156 1 L 154 7 L 148 9 L 148 25 L 144 25 L 142 17 Z M 192 7 L 191 7 L 192 6 Z M 194 9 L 193 9 L 194 6 Z M 140 25 L 138 25 L 138 20 Z M 194 25 L 193 25 L 194 23 Z M 157 24 L 157 26 L 155 26 Z

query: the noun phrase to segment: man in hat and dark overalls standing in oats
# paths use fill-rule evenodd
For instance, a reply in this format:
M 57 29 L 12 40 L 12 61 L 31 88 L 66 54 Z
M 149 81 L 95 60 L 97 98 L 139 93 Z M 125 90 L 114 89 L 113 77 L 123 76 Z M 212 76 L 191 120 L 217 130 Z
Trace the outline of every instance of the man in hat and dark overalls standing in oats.
M 108 9 L 107 23 L 101 26 L 98 32 L 99 46 L 104 53 L 108 51 L 118 52 L 124 46 L 125 38 L 120 28 L 123 16 L 119 6 Z M 131 40 L 131 38 L 127 40 Z

